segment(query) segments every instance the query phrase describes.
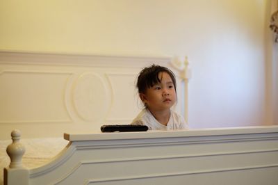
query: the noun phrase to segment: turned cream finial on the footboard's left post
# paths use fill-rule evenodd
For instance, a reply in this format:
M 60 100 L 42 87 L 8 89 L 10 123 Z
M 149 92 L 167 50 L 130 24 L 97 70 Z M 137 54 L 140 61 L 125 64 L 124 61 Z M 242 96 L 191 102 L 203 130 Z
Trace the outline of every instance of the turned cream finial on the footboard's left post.
M 13 130 L 10 135 L 13 143 L 8 145 L 6 150 L 10 156 L 10 168 L 22 168 L 22 156 L 25 153 L 25 147 L 19 142 L 21 133 L 19 130 Z

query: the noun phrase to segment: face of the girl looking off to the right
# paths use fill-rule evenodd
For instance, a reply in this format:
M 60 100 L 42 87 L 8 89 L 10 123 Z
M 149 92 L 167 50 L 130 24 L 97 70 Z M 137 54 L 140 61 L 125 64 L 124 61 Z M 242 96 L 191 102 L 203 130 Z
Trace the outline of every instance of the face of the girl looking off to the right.
M 174 83 L 167 72 L 158 74 L 161 83 L 157 83 L 151 88 L 147 88 L 145 94 L 140 94 L 140 98 L 150 111 L 165 111 L 176 102 L 176 91 Z

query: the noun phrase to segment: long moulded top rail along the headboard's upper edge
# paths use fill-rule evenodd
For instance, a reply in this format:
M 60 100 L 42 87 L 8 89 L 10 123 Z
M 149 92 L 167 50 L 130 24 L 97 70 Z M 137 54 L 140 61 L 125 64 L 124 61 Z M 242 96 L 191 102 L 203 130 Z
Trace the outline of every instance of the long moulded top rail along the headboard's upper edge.
M 113 62 L 112 62 L 113 61 Z M 51 54 L 0 50 L 0 63 L 36 64 L 36 65 L 67 65 L 95 67 L 142 67 L 149 63 L 167 65 L 171 57 L 142 56 L 101 56 L 89 54 Z M 132 64 L 132 65 L 131 65 Z

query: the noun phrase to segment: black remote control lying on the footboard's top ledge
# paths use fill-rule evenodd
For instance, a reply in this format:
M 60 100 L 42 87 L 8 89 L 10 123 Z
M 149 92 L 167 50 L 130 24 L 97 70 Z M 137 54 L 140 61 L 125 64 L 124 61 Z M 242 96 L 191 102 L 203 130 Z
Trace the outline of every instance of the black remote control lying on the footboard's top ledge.
M 147 131 L 146 125 L 140 124 L 104 124 L 100 127 L 102 132 L 113 131 Z

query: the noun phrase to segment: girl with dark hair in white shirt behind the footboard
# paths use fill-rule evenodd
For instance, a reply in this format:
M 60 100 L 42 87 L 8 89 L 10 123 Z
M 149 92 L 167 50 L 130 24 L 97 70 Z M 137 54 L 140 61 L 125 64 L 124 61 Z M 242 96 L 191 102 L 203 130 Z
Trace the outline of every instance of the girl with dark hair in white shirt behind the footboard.
M 171 70 L 159 65 L 145 67 L 136 86 L 145 108 L 131 124 L 147 125 L 150 130 L 188 128 L 183 117 L 170 109 L 177 99 L 176 79 Z

